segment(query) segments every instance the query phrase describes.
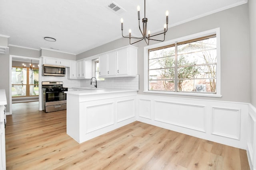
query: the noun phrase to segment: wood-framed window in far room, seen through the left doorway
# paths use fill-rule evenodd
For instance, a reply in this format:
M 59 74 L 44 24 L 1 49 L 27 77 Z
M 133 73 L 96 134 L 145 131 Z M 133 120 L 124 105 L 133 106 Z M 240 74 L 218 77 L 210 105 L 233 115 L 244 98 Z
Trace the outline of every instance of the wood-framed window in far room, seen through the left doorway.
M 12 67 L 12 97 L 38 96 L 38 69 Z

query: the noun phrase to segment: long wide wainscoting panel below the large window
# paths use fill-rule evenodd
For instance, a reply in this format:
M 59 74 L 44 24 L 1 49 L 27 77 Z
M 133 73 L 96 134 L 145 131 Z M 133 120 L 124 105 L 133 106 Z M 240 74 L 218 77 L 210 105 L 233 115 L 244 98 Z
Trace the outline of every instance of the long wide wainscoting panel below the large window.
M 203 105 L 154 101 L 154 120 L 206 133 Z

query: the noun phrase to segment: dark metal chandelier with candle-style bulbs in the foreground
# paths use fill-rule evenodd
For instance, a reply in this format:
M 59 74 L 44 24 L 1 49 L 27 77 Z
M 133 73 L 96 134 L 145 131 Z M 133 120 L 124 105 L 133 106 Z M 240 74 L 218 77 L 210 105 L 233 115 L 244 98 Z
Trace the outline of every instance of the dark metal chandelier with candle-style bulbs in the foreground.
M 150 35 L 150 31 L 148 30 L 148 36 L 146 35 L 147 34 L 147 22 L 148 22 L 148 18 L 146 18 L 146 5 L 145 5 L 145 2 L 146 0 L 144 0 L 144 18 L 142 19 L 142 23 L 143 23 L 143 31 L 141 31 L 140 29 L 140 6 L 137 7 L 137 10 L 138 10 L 138 20 L 139 20 L 139 29 L 140 29 L 140 32 L 142 34 L 142 37 L 132 37 L 131 36 L 131 29 L 129 29 L 129 37 L 125 37 L 123 35 L 123 18 L 121 18 L 121 29 L 122 29 L 122 36 L 124 38 L 129 38 L 130 39 L 130 44 L 134 44 L 134 43 L 137 43 L 139 41 L 142 41 L 143 39 L 145 40 L 145 42 L 147 43 L 147 45 L 149 45 L 149 40 L 154 40 L 154 41 L 164 41 L 165 40 L 165 33 L 167 32 L 168 30 L 168 14 L 169 12 L 166 11 L 166 23 L 164 24 L 164 32 L 162 33 L 158 33 L 156 35 L 161 35 L 161 34 L 164 34 L 164 39 L 163 40 L 158 40 L 158 39 L 152 39 L 151 37 L 154 37 L 156 35 Z M 140 39 L 134 43 L 131 43 L 131 39 Z

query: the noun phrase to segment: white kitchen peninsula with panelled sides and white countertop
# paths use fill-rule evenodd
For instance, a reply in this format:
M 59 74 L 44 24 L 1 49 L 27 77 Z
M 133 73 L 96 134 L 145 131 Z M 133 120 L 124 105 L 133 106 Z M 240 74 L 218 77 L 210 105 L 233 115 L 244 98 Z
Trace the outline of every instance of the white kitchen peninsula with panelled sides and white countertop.
M 65 92 L 67 134 L 78 143 L 136 120 L 135 100 L 138 90 L 85 89 Z

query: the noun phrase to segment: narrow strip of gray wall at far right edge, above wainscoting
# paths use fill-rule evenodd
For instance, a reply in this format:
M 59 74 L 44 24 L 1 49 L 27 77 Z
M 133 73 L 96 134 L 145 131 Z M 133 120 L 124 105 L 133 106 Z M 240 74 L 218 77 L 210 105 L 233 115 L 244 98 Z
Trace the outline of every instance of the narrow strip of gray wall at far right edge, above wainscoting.
M 249 0 L 250 18 L 250 63 L 251 63 L 251 104 L 256 107 L 256 1 Z

